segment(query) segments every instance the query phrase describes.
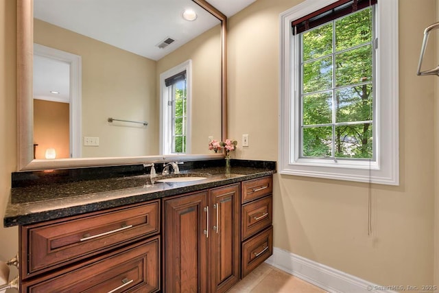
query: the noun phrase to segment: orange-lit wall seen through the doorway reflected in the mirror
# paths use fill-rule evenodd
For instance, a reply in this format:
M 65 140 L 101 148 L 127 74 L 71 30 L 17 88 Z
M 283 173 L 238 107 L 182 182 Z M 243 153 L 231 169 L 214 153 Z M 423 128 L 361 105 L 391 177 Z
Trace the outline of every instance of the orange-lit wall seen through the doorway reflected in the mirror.
M 69 104 L 34 99 L 34 143 L 36 159 L 45 159 L 54 148 L 56 159 L 70 158 Z

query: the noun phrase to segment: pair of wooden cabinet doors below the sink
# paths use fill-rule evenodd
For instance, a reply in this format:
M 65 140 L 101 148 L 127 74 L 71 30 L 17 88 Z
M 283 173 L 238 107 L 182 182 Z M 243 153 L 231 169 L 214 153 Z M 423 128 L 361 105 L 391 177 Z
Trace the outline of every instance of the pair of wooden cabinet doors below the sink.
M 239 281 L 240 185 L 165 199 L 165 292 L 224 292 Z

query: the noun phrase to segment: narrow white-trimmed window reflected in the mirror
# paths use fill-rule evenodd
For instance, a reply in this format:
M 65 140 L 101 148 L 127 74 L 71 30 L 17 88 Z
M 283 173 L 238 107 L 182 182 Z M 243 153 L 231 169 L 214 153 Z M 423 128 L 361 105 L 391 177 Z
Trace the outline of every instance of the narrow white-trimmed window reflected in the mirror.
M 161 153 L 189 152 L 191 62 L 161 74 Z

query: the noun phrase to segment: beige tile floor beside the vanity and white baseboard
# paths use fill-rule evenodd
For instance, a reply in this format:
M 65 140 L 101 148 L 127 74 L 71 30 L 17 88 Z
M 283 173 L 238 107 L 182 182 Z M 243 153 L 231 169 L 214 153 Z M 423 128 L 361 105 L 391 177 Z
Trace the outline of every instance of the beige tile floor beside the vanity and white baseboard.
M 283 272 L 268 263 L 262 263 L 228 293 L 324 293 L 326 291 Z

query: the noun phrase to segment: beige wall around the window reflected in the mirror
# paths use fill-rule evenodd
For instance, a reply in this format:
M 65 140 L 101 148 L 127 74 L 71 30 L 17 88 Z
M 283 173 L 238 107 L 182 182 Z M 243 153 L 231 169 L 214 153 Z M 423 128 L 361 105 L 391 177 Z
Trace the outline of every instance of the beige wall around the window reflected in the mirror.
M 213 27 L 157 62 L 157 76 L 192 60 L 192 154 L 209 154 L 209 137 L 221 139 L 221 27 Z M 160 80 L 157 80 L 159 83 Z M 160 92 L 157 83 L 157 92 Z M 157 112 L 160 106 L 157 105 Z

